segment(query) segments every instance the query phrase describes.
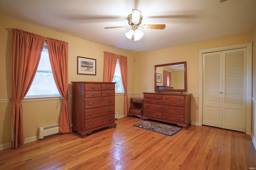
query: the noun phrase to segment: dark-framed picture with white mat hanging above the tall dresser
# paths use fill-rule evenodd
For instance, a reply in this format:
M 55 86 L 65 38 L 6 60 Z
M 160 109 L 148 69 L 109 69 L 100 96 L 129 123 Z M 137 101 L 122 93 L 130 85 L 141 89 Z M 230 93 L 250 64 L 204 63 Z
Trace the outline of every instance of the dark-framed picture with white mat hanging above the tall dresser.
M 77 74 L 96 75 L 96 59 L 77 56 Z

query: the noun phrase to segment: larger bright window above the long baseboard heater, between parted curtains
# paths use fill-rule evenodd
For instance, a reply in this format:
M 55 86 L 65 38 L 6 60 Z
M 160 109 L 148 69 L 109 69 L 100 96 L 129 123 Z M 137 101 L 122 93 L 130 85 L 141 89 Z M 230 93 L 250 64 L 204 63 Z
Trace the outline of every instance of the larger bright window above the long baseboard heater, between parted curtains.
M 25 98 L 60 96 L 55 84 L 46 42 L 31 87 Z

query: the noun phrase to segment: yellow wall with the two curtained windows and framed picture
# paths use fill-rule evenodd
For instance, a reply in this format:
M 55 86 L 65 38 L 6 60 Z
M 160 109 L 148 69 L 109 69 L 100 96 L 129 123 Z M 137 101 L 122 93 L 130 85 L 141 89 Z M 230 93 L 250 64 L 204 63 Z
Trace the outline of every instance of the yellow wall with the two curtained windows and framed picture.
M 69 106 L 72 114 L 72 81 L 103 81 L 104 51 L 123 55 L 128 58 L 128 97 L 134 92 L 134 53 L 92 43 L 77 37 L 58 33 L 20 21 L 0 16 L 0 149 L 10 147 L 11 124 L 11 59 L 12 59 L 12 28 L 22 29 L 45 37 L 68 42 L 68 82 Z M 132 43 L 132 41 L 131 41 Z M 77 56 L 96 59 L 96 76 L 77 74 Z M 124 95 L 116 95 L 116 111 L 124 114 Z M 39 99 L 23 100 L 25 143 L 35 140 L 38 127 L 59 123 L 62 100 Z M 72 118 L 72 117 L 71 117 Z

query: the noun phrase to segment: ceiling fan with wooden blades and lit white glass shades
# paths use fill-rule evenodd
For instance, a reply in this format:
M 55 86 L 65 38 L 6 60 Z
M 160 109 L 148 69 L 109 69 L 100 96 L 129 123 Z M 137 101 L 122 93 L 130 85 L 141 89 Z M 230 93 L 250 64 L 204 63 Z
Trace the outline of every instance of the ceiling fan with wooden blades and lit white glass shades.
M 141 24 L 142 21 L 142 15 L 141 11 L 133 9 L 132 14 L 128 15 L 127 17 L 128 24 L 130 26 L 117 26 L 117 27 L 104 27 L 105 29 L 111 29 L 111 28 L 128 28 L 132 27 L 132 30 L 128 31 L 125 35 L 128 39 L 132 39 L 134 41 L 137 41 L 143 37 L 144 33 L 138 29 L 138 27 L 141 27 L 143 29 L 164 29 L 166 26 L 165 24 Z

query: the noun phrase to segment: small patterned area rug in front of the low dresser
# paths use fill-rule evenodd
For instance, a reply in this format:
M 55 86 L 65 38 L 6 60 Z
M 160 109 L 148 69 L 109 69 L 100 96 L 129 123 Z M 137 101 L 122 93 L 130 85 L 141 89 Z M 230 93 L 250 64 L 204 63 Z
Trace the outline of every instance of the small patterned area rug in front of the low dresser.
M 172 136 L 182 129 L 181 127 L 176 127 L 176 126 L 159 123 L 156 121 L 148 121 L 148 120 L 137 123 L 134 126 L 147 129 L 153 132 L 157 132 L 157 133 L 162 133 L 168 136 Z

